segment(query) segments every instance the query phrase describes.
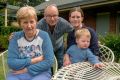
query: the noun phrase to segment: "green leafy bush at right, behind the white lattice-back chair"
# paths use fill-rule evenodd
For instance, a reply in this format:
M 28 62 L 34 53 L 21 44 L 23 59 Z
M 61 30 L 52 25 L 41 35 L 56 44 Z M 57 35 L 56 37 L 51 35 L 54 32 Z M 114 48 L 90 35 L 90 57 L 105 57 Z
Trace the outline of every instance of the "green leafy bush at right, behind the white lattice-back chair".
M 120 60 L 120 34 L 107 34 L 100 36 L 101 44 L 108 46 L 115 54 L 115 62 Z

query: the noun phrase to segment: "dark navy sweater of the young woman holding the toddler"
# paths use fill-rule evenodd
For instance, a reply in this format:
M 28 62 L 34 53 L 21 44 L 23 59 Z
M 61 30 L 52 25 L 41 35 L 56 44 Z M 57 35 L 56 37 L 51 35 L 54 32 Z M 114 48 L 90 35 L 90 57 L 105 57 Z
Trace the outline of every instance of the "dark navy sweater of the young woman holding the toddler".
M 91 34 L 89 49 L 94 53 L 94 55 L 99 56 L 98 37 L 96 32 L 90 27 L 83 26 L 83 28 L 87 28 Z M 69 32 L 67 36 L 67 49 L 74 44 L 76 44 L 75 30 Z

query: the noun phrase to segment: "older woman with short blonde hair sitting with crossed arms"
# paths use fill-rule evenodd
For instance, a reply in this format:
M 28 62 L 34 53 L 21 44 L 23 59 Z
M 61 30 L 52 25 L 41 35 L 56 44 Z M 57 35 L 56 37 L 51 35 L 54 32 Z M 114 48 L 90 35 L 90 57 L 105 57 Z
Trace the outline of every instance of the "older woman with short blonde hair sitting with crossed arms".
M 37 15 L 33 7 L 17 11 L 23 31 L 15 32 L 8 47 L 7 80 L 50 80 L 54 53 L 48 33 L 36 29 Z

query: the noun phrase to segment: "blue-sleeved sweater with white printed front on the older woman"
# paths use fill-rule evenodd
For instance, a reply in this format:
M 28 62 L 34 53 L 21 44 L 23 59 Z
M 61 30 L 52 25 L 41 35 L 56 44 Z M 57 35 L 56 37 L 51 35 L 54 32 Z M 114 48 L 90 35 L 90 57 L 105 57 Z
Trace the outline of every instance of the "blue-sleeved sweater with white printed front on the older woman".
M 37 56 L 44 56 L 44 60 L 31 64 L 31 59 Z M 54 62 L 54 52 L 49 35 L 40 30 L 35 39 L 31 42 L 24 37 L 24 32 L 15 32 L 9 42 L 8 66 L 13 70 L 27 68 L 28 73 L 35 76 L 44 71 L 50 73 Z

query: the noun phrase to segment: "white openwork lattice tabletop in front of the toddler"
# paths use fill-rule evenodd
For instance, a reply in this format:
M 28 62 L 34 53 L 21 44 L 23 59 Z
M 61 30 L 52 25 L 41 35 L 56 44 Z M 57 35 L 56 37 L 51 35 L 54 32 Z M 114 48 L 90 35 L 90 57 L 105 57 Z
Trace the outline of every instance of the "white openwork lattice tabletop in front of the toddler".
M 52 80 L 120 80 L 120 64 L 106 63 L 101 69 L 88 62 L 75 63 L 59 69 Z

